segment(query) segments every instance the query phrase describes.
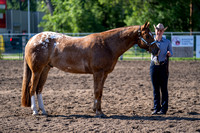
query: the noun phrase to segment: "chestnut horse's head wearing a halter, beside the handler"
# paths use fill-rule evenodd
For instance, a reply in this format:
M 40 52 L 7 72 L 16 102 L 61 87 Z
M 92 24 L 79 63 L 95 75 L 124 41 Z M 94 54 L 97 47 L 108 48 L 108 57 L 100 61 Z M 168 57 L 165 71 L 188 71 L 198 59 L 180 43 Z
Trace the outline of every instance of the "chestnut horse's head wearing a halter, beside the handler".
M 157 46 L 154 36 L 149 29 L 149 22 L 146 22 L 144 25 L 140 26 L 138 29 L 138 38 L 138 46 L 140 48 L 146 49 L 153 55 L 159 54 L 160 49 Z

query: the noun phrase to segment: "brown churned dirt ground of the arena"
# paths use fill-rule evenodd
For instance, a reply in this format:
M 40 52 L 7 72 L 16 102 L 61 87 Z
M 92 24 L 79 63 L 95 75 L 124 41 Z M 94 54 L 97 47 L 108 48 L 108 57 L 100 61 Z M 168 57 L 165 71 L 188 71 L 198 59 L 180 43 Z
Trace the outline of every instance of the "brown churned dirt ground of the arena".
M 92 75 L 51 69 L 43 100 L 48 116 L 20 105 L 23 61 L 0 61 L 0 132 L 200 132 L 200 61 L 170 61 L 169 111 L 152 116 L 149 61 L 119 61 L 95 118 Z

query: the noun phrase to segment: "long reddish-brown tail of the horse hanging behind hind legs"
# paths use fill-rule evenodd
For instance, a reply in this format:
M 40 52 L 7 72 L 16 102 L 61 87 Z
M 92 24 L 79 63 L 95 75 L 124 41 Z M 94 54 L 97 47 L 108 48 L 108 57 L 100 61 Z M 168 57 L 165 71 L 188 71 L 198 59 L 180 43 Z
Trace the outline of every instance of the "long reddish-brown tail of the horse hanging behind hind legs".
M 31 96 L 30 96 L 30 79 L 31 79 L 32 72 L 24 59 L 24 74 L 23 74 L 23 82 L 22 82 L 22 97 L 21 97 L 21 104 L 23 107 L 30 107 L 31 106 Z

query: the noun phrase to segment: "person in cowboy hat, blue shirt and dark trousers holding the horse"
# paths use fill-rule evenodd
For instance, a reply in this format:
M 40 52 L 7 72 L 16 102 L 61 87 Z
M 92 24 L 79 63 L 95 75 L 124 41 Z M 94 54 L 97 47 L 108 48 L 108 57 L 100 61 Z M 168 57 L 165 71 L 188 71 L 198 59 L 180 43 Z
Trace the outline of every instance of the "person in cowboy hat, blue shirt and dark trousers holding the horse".
M 165 115 L 168 110 L 168 57 L 172 56 L 172 45 L 168 39 L 162 37 L 164 31 L 163 24 L 159 23 L 155 28 L 155 40 L 160 48 L 160 54 L 158 56 L 151 56 L 150 76 L 153 85 L 154 96 L 154 111 L 152 115 Z M 162 99 L 160 102 L 160 91 Z

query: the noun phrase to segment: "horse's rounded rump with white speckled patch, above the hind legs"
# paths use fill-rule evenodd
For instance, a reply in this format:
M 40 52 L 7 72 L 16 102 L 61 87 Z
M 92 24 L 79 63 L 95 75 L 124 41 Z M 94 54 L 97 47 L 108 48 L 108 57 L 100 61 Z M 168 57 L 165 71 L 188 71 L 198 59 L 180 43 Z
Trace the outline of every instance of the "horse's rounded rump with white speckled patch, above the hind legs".
M 41 32 L 33 36 L 25 47 L 25 59 L 30 67 L 45 66 L 49 63 L 58 40 L 70 40 L 69 36 L 56 32 Z

